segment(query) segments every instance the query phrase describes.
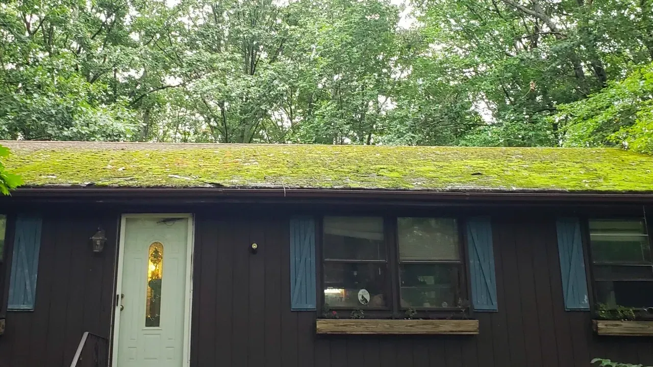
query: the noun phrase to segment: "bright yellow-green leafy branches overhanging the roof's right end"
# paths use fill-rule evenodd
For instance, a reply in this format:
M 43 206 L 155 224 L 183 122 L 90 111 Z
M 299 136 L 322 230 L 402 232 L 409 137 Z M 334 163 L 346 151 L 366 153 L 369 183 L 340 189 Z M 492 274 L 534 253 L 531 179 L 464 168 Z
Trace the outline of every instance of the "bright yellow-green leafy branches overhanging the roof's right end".
M 653 63 L 587 99 L 559 106 L 565 145 L 623 145 L 653 153 Z

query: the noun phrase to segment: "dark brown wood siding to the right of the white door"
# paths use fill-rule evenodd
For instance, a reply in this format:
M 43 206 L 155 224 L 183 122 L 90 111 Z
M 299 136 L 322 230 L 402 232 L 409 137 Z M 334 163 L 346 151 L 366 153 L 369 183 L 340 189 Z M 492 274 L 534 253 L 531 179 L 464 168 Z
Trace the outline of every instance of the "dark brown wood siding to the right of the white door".
M 196 225 L 191 366 L 653 364 L 653 338 L 599 337 L 590 312 L 564 310 L 553 215 L 493 217 L 499 311 L 475 313 L 477 336 L 316 336 L 317 313 L 290 308 L 287 218 Z

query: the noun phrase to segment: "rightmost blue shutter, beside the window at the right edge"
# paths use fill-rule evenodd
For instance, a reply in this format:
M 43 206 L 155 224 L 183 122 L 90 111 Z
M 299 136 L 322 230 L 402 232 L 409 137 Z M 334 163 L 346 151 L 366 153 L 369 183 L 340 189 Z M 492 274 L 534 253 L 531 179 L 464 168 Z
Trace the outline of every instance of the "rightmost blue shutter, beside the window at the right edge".
M 590 310 L 582 254 L 581 223 L 577 218 L 558 218 L 558 254 L 565 310 Z

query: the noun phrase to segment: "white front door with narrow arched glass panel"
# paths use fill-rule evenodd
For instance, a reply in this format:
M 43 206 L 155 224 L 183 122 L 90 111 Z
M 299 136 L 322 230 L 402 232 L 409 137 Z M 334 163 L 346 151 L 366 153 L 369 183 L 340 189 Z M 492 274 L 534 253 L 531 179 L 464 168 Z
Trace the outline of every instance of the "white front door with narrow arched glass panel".
M 185 366 L 191 217 L 125 215 L 122 223 L 113 366 Z

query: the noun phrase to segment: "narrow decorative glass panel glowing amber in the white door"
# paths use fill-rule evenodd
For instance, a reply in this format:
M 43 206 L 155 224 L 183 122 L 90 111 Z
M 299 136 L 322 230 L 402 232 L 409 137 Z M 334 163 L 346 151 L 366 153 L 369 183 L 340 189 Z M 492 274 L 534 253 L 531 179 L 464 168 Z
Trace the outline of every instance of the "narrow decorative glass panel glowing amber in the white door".
M 153 242 L 148 256 L 148 293 L 145 326 L 159 327 L 161 323 L 161 282 L 163 281 L 163 244 Z

